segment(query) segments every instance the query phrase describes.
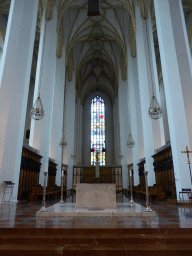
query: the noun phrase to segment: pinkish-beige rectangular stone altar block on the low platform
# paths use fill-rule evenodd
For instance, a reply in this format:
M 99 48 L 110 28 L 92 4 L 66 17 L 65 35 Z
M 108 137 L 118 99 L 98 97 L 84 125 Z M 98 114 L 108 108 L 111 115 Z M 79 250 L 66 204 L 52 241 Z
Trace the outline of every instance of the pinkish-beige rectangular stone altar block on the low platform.
M 116 185 L 76 184 L 76 208 L 116 209 Z

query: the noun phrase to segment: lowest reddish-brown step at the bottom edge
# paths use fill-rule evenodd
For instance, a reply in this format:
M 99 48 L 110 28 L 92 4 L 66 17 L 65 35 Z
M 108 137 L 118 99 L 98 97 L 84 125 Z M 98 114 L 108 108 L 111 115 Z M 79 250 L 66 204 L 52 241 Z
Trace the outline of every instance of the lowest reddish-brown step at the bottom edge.
M 105 245 L 89 245 L 89 244 L 66 244 L 63 246 L 57 246 L 54 244 L 42 244 L 42 245 L 13 245 L 6 244 L 0 246 L 0 255 L 12 256 L 37 256 L 37 255 L 69 255 L 69 256 L 185 256 L 191 255 L 192 244 L 169 244 L 169 245 L 157 245 L 157 244 L 105 244 Z

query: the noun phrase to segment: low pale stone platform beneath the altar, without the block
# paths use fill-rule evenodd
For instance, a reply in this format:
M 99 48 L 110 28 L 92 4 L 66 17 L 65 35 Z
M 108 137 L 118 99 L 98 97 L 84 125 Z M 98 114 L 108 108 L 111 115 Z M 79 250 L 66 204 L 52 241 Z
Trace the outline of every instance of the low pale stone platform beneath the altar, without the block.
M 154 217 L 155 212 L 145 212 L 145 207 L 129 202 L 117 203 L 116 209 L 88 210 L 76 208 L 76 203 L 54 204 L 46 208 L 45 212 L 38 211 L 36 217 Z

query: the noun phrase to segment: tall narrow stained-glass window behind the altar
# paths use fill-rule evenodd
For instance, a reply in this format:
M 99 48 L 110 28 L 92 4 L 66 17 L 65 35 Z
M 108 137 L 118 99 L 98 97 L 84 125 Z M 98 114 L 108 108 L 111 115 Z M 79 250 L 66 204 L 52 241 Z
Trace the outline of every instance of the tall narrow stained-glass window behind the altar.
M 97 151 L 100 165 L 105 165 L 105 103 L 99 96 L 91 100 L 91 165 L 96 163 Z

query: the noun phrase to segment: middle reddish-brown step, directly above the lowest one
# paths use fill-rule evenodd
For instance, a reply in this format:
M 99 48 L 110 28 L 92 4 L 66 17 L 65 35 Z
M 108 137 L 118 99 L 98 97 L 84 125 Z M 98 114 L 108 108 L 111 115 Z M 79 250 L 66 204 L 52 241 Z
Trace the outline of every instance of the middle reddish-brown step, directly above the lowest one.
M 6 235 L 0 237 L 0 245 L 2 244 L 192 244 L 192 236 L 176 235 L 176 236 L 157 236 L 157 235 L 142 235 L 138 236 L 15 236 Z

